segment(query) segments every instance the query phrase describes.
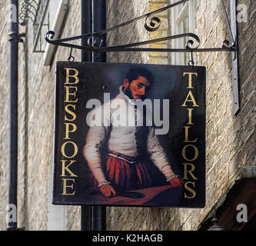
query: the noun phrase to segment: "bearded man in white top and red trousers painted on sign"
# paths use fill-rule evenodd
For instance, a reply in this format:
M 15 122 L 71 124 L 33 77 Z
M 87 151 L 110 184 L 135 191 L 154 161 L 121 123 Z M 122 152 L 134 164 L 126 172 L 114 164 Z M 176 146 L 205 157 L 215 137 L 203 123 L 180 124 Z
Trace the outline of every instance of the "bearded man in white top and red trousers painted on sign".
M 144 101 L 153 84 L 154 76 L 150 71 L 131 68 L 116 98 L 91 111 L 91 119 L 100 118 L 101 124 L 90 125 L 83 155 L 91 170 L 93 185 L 106 198 L 154 184 L 155 177 L 145 156 L 165 176 L 166 184 L 182 187 L 183 181 L 172 170 L 155 128 L 138 124 L 138 118 L 145 118 L 145 112 L 136 107 L 136 101 Z M 125 110 L 118 111 L 116 105 L 120 102 Z M 124 118 L 122 122 L 127 124 L 119 124 Z M 107 150 L 106 158 L 102 148 Z

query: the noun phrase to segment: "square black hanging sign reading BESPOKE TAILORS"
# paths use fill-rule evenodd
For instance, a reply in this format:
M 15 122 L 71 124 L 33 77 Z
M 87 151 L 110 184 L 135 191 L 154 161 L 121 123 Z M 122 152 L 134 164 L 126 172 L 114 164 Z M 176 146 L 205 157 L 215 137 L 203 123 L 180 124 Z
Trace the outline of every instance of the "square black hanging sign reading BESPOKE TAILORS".
M 204 208 L 205 68 L 58 62 L 53 204 Z

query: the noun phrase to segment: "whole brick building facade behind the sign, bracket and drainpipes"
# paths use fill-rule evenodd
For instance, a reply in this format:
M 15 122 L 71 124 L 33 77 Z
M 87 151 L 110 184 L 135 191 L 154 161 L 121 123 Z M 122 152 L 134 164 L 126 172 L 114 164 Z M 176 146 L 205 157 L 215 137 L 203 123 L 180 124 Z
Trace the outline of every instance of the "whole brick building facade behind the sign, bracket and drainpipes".
M 176 1 L 106 1 L 107 27 L 155 11 Z M 2 38 L 0 61 L 0 228 L 7 228 L 8 216 L 8 2 L 1 1 Z M 229 1 L 224 1 L 227 9 Z M 18 227 L 25 230 L 80 230 L 79 206 L 52 205 L 52 163 L 55 108 L 55 62 L 67 61 L 70 50 L 52 48 L 44 37 L 48 28 L 59 36 L 80 34 L 81 10 L 78 0 L 49 1 L 45 25 L 28 20 L 19 32 L 18 58 Z M 22 4 L 20 5 L 22 8 Z M 44 9 L 44 8 L 42 8 Z M 22 12 L 19 9 L 19 12 Z M 43 11 L 42 11 L 43 12 Z M 229 13 L 228 13 L 229 15 Z M 121 45 L 194 32 L 201 47 L 221 47 L 229 39 L 221 1 L 190 0 L 157 15 L 161 26 L 147 32 L 144 20 L 113 31 L 107 45 Z M 238 0 L 240 109 L 234 115 L 230 52 L 195 53 L 195 65 L 206 67 L 206 206 L 188 208 L 107 208 L 107 230 L 207 230 L 214 212 L 227 230 L 249 229 L 255 223 L 256 145 L 256 3 Z M 37 33 L 39 38 L 37 39 Z M 36 45 L 35 45 L 36 44 Z M 180 48 L 185 40 L 159 42 L 148 48 Z M 183 47 L 183 46 L 182 46 Z M 73 50 L 75 62 L 81 52 Z M 189 54 L 164 52 L 110 52 L 107 62 L 187 65 Z M 244 195 L 248 194 L 248 197 Z M 246 198 L 245 198 L 246 197 Z M 238 204 L 248 207 L 248 223 L 236 220 Z

